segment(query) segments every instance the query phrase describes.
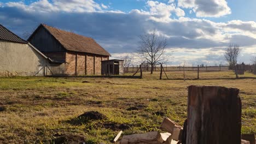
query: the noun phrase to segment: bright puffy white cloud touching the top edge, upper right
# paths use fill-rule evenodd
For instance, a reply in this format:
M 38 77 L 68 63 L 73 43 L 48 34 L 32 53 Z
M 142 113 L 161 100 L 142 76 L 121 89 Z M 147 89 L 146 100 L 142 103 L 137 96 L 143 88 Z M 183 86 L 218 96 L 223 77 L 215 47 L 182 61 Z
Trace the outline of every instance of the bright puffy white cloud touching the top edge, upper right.
M 178 6 L 194 9 L 197 17 L 220 17 L 231 14 L 225 0 L 178 0 Z

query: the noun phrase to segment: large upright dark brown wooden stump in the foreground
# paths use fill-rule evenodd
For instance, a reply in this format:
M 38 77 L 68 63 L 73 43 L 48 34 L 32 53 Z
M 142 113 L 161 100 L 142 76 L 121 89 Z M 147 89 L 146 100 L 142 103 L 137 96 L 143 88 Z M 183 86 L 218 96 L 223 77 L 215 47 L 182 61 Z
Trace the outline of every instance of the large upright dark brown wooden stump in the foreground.
M 241 144 L 239 89 L 188 87 L 186 144 Z

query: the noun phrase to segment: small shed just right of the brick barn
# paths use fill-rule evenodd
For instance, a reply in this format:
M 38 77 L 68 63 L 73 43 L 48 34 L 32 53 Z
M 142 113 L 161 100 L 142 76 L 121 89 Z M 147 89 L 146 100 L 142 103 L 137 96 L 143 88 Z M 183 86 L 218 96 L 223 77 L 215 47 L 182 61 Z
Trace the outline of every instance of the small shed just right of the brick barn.
M 101 62 L 102 75 L 121 75 L 124 74 L 124 60 L 110 59 Z

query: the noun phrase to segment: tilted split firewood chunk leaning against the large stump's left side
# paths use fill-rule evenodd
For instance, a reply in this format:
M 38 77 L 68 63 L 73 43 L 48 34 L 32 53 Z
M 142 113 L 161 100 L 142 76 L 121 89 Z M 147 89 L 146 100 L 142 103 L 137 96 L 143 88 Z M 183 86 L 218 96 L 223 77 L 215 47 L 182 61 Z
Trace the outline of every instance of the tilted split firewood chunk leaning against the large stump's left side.
M 173 133 L 174 128 L 182 129 L 181 125 L 177 124 L 176 122 L 172 121 L 171 119 L 164 117 L 162 120 L 162 124 L 160 126 L 161 129 L 165 129 L 169 133 Z

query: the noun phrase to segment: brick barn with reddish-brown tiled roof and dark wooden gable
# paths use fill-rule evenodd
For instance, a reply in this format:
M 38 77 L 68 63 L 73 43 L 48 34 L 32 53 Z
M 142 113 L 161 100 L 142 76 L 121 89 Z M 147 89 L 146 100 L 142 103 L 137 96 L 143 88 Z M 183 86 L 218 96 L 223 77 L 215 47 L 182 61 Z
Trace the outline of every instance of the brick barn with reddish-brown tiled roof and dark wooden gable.
M 40 24 L 28 41 L 55 62 L 53 75 L 100 75 L 101 62 L 110 54 L 96 41 L 83 35 Z

